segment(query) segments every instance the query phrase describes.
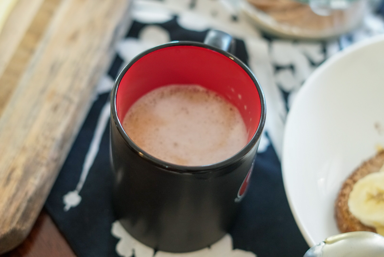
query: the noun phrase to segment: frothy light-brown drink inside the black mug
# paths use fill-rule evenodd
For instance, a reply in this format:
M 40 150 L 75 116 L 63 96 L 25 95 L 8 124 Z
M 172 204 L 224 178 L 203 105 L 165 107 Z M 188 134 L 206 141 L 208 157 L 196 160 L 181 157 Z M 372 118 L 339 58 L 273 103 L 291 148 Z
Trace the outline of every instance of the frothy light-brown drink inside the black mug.
M 152 90 L 132 105 L 122 126 L 148 154 L 188 166 L 225 160 L 248 139 L 238 109 L 198 85 Z

